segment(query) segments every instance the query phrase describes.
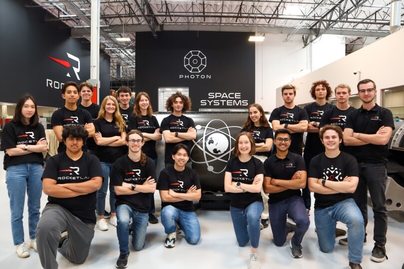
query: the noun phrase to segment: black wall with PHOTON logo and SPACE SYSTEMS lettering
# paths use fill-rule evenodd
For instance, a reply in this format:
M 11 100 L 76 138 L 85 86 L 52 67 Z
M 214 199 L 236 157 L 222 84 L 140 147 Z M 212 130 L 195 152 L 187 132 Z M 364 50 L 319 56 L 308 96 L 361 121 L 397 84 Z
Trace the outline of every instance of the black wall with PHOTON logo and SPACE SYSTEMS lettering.
M 156 111 L 159 87 L 189 87 L 193 111 L 247 108 L 255 102 L 255 43 L 248 41 L 250 33 L 163 31 L 157 35 L 136 33 L 136 92 L 149 93 Z M 201 72 L 185 67 L 190 51 L 205 56 Z M 200 65 L 203 60 L 197 57 L 190 60 Z

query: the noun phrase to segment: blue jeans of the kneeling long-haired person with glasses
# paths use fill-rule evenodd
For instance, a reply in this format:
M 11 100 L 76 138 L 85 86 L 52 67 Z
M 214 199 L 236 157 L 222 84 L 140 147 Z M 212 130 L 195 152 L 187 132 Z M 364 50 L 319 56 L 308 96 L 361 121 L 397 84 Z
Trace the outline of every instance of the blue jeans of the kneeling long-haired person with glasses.
M 118 225 L 116 234 L 119 242 L 119 252 L 129 253 L 129 222 L 132 218 L 132 246 L 136 251 L 145 247 L 146 229 L 149 222 L 149 213 L 141 213 L 133 210 L 128 205 L 119 205 L 116 216 Z

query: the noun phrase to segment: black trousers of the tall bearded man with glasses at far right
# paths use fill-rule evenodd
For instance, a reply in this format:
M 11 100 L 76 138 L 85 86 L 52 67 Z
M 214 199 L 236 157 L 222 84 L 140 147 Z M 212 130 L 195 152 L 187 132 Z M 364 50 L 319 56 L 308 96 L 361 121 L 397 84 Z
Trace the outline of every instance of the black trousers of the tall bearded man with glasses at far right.
M 386 208 L 386 181 L 387 169 L 384 164 L 359 162 L 359 183 L 354 193 L 354 199 L 362 212 L 366 226 L 368 225 L 368 188 L 373 204 L 375 227 L 373 240 L 375 246 L 386 245 L 387 208 Z

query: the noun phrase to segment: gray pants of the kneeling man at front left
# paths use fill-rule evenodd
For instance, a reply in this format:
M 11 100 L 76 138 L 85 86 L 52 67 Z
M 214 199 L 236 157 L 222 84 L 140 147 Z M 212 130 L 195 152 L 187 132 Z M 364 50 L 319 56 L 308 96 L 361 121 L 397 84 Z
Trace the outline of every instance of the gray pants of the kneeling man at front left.
M 36 227 L 36 244 L 42 267 L 57 269 L 58 250 L 70 262 L 83 264 L 90 251 L 94 226 L 82 222 L 59 205 L 46 205 Z M 64 231 L 67 231 L 67 240 L 58 249 L 61 233 Z

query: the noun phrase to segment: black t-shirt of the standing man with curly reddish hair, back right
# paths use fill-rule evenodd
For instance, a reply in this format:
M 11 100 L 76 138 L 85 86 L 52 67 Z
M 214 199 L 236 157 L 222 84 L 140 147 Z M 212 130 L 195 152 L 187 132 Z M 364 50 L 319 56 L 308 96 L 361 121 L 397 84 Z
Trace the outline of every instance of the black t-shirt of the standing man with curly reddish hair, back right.
M 320 106 L 316 102 L 308 104 L 304 107 L 309 116 L 309 122 L 320 122 L 324 113 L 333 108 L 333 105 L 329 103 L 325 103 L 323 106 Z M 318 128 L 320 128 L 318 126 Z M 320 136 L 318 133 L 309 133 L 307 132 L 306 144 L 304 145 L 304 152 L 310 152 L 313 154 L 319 154 L 324 152 L 325 148 L 323 143 L 320 140 Z

